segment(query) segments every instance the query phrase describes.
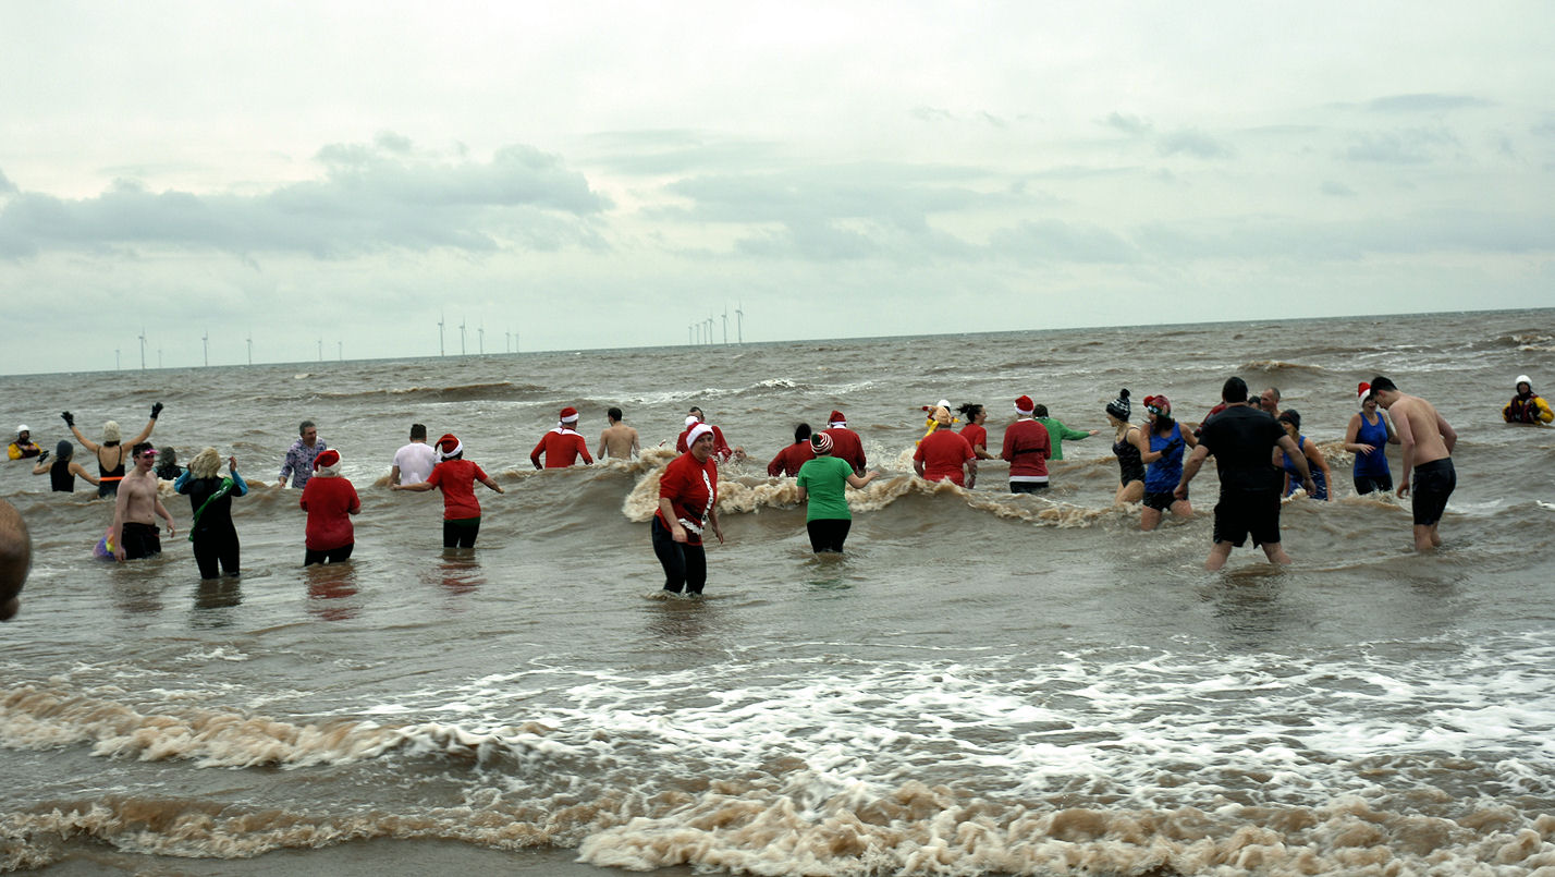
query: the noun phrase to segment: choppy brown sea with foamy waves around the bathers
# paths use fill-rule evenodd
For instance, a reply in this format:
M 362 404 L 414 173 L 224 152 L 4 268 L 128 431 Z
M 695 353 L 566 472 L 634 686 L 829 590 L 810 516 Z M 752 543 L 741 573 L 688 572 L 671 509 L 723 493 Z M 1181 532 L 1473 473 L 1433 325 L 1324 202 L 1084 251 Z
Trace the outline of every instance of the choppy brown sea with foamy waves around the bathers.
M 201 582 L 171 485 L 179 535 L 115 564 L 109 501 L 0 463 L 34 547 L 0 625 L 0 871 L 1552 875 L 1555 431 L 1502 423 L 1519 373 L 1555 390 L 1555 311 L 3 378 L 45 448 L 64 409 L 134 435 L 160 401 L 159 446 L 253 490 L 241 577 Z M 1336 476 L 1286 501 L 1288 568 L 1204 571 L 1213 465 L 1190 519 L 1113 504 L 1104 404 L 1193 423 L 1232 375 Z M 1437 554 L 1350 485 L 1375 375 L 1457 431 Z M 1020 395 L 1101 431 L 1050 491 L 914 477 L 925 404 L 986 404 L 997 448 Z M 704 599 L 664 599 L 648 518 L 694 404 L 746 459 Z M 564 406 L 591 448 L 622 407 L 641 459 L 535 471 Z M 880 477 L 816 557 L 765 462 L 833 409 Z M 350 563 L 302 564 L 303 418 L 362 498 Z M 412 423 L 505 490 L 471 550 L 435 491 L 387 488 Z

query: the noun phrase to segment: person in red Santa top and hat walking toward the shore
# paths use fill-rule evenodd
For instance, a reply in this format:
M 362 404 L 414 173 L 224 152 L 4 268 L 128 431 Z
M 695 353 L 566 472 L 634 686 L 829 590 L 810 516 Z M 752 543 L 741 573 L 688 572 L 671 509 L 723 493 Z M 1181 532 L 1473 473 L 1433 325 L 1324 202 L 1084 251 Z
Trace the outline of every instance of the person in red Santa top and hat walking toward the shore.
M 718 463 L 712 460 L 712 428 L 698 423 L 686 435 L 687 451 L 670 460 L 659 476 L 659 510 L 653 513 L 653 554 L 664 566 L 664 589 L 670 594 L 701 594 L 708 583 L 708 554 L 701 533 L 723 544 L 718 526 Z

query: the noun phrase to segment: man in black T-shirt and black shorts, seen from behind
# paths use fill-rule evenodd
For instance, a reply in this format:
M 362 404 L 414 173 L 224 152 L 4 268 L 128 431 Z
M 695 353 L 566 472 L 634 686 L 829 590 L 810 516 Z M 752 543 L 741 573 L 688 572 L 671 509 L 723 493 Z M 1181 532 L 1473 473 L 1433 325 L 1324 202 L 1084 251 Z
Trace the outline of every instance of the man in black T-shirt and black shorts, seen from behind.
M 1249 533 L 1253 544 L 1263 546 L 1269 563 L 1291 563 L 1291 555 L 1280 547 L 1283 479 L 1274 465 L 1274 448 L 1278 445 L 1289 454 L 1302 473 L 1302 487 L 1316 493 L 1306 454 L 1274 417 L 1247 407 L 1247 383 L 1241 378 L 1227 378 L 1221 387 L 1221 400 L 1227 407 L 1204 423 L 1199 446 L 1183 463 L 1176 490 L 1179 499 L 1186 499 L 1188 482 L 1199 474 L 1204 459 L 1214 454 L 1214 468 L 1221 474 L 1221 501 L 1214 504 L 1214 547 L 1204 568 L 1216 571 L 1225 566 L 1232 549 L 1239 547 Z

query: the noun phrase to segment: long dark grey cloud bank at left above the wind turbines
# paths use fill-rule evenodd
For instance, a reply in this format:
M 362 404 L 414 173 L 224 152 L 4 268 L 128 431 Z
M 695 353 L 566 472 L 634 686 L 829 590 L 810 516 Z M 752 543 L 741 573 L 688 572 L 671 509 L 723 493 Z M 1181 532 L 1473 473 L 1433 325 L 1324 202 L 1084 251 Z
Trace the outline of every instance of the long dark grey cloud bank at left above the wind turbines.
M 117 180 L 96 197 L 19 193 L 0 208 L 0 255 L 135 247 L 292 252 L 600 246 L 586 219 L 610 207 L 561 160 L 505 146 L 490 162 L 415 154 L 407 138 L 331 145 L 320 177 L 260 194 L 151 191 Z

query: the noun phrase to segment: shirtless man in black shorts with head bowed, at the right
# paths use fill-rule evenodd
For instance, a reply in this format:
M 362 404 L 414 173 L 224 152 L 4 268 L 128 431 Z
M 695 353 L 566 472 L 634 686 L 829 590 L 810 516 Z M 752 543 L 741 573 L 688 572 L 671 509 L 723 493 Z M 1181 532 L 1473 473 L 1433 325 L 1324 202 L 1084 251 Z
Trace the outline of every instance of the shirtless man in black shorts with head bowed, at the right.
M 1420 397 L 1398 392 L 1393 381 L 1378 375 L 1372 378 L 1372 395 L 1376 404 L 1393 415 L 1393 429 L 1403 446 L 1404 463 L 1398 479 L 1398 498 L 1409 496 L 1409 476 L 1415 474 L 1415 550 L 1441 547 L 1437 524 L 1448 507 L 1448 496 L 1457 487 L 1457 471 L 1452 468 L 1452 446 L 1457 432 L 1437 414 L 1437 407 Z

